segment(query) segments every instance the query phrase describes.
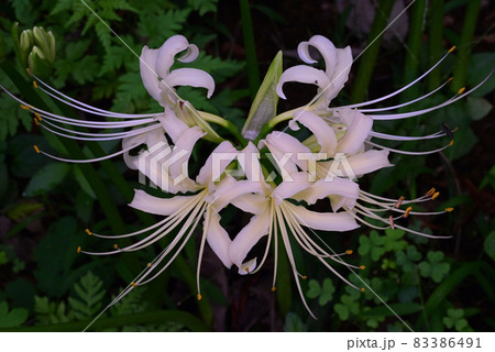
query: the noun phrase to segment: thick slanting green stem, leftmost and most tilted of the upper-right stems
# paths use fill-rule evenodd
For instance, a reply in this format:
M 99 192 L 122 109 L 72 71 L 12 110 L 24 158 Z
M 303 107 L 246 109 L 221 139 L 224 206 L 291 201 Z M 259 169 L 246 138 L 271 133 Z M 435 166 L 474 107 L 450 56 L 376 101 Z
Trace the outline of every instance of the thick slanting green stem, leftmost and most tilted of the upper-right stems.
M 367 40 L 367 46 L 361 57 L 360 68 L 355 78 L 354 88 L 351 94 L 351 102 L 363 101 L 366 96 L 367 86 L 373 75 L 376 57 L 378 56 L 380 46 L 382 44 L 382 31 L 387 25 L 387 20 L 394 6 L 394 0 L 381 0 L 376 10 L 375 19 Z

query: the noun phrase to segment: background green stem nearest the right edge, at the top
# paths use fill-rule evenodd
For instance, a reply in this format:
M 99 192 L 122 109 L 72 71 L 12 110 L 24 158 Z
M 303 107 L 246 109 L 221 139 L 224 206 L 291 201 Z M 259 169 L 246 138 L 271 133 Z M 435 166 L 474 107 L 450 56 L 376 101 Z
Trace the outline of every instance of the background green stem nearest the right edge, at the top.
M 468 9 L 464 16 L 464 25 L 461 33 L 461 42 L 458 46 L 458 59 L 452 80 L 452 90 L 458 91 L 465 85 L 468 77 L 468 65 L 471 56 L 471 45 L 473 42 L 474 30 L 476 28 L 477 14 L 480 12 L 481 0 L 468 1 Z

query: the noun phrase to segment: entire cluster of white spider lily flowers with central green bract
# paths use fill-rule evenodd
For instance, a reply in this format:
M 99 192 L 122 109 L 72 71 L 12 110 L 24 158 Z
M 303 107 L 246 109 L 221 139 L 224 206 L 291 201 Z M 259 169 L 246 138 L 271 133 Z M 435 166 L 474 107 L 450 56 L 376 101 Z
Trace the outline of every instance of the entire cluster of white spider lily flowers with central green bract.
M 311 56 L 310 47 L 316 48 L 323 58 L 324 70 L 310 66 L 317 63 Z M 176 58 L 182 53 L 183 55 Z M 125 114 L 102 110 L 55 90 L 34 74 L 32 75 L 37 89 L 99 119 L 79 120 L 58 116 L 32 107 L 6 91 L 24 109 L 34 113 L 35 122 L 41 128 L 52 133 L 79 141 L 122 142 L 119 152 L 94 160 L 61 158 L 35 146 L 36 152 L 75 163 L 97 162 L 122 154 L 128 167 L 139 170 L 142 179 L 150 180 L 163 190 L 164 197 L 155 197 L 136 189 L 130 204 L 130 207 L 135 209 L 164 217 L 152 227 L 119 235 L 98 234 L 87 230 L 88 234 L 102 239 L 135 238 L 133 244 L 124 248 L 116 244 L 113 250 L 103 253 L 78 249 L 79 252 L 92 255 L 118 254 L 139 251 L 167 235 L 174 237 L 123 295 L 164 272 L 201 224 L 197 267 L 198 299 L 201 298 L 199 275 L 206 243 L 226 267 L 235 266 L 241 275 L 258 271 L 273 244 L 275 265 L 272 289 L 275 290 L 276 256 L 278 246 L 282 245 L 306 305 L 299 284 L 299 279 L 305 276 L 297 270 L 293 245 L 299 245 L 353 287 L 355 286 L 331 264 L 342 264 L 351 270 L 364 268 L 345 263 L 343 257 L 352 251 L 336 253 L 326 242 L 320 241 L 315 231 L 351 231 L 364 224 L 374 229 L 399 228 L 418 235 L 432 237 L 402 227 L 398 220 L 409 215 L 438 215 L 452 210 L 448 208 L 440 212 L 413 211 L 411 205 L 435 199 L 438 196 L 435 189 L 417 199 L 388 199 L 361 189 L 358 183 L 365 174 L 392 167 L 388 161 L 391 152 L 425 155 L 452 144 L 453 141 L 449 141 L 450 143 L 441 148 L 426 152 L 392 150 L 376 140 L 421 141 L 451 138 L 452 131 L 446 128 L 429 135 L 402 136 L 375 132 L 373 125 L 377 120 L 407 119 L 440 109 L 462 99 L 470 91 L 459 91 L 450 100 L 428 109 L 386 113 L 435 94 L 446 82 L 426 96 L 399 106 L 367 108 L 397 96 L 418 82 L 449 53 L 418 79 L 395 92 L 372 101 L 332 107 L 332 100 L 348 80 L 353 63 L 352 54 L 350 47 L 336 48 L 328 38 L 315 35 L 298 46 L 298 54 L 307 65 L 290 67 L 282 74 L 276 73 L 282 67 L 282 62 L 271 66 L 255 99 L 257 106 L 254 110 L 263 113 L 250 116 L 243 135 L 233 130 L 228 120 L 198 111 L 177 96 L 177 86 L 205 88 L 208 98 L 215 91 L 213 78 L 204 70 L 170 70 L 176 59 L 189 63 L 198 56 L 198 47 L 189 44 L 182 35 L 168 38 L 158 50 L 145 46 L 140 58 L 143 85 L 151 97 L 164 108 L 163 112 Z M 280 57 L 277 55 L 278 59 L 282 59 Z M 318 94 L 308 105 L 277 114 L 276 102 L 278 97 L 286 99 L 283 88 L 287 81 L 316 85 Z M 287 122 L 286 128 L 275 131 L 275 127 L 282 122 Z M 211 123 L 226 128 L 237 140 L 223 139 Z M 94 132 L 88 132 L 88 129 Z M 297 133 L 300 129 L 304 129 L 309 138 L 296 138 L 295 135 L 302 134 Z M 199 173 L 191 177 L 188 164 L 195 145 L 200 140 L 208 141 L 201 145 L 212 147 Z M 309 210 L 308 207 L 316 202 L 319 202 L 319 209 L 326 207 L 327 210 Z M 220 223 L 221 211 L 227 206 L 233 206 L 251 216 L 249 223 L 238 233 L 228 233 Z M 264 243 L 261 241 L 264 238 L 265 251 L 261 260 L 250 257 L 252 249 L 258 242 Z M 308 308 L 307 305 L 306 307 Z

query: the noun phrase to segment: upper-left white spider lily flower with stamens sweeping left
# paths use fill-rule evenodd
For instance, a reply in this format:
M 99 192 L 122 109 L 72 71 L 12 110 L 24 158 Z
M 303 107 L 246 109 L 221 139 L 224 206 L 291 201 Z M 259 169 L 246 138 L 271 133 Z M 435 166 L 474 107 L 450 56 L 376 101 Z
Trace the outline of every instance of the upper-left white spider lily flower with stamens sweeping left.
M 30 72 L 30 74 L 34 79 L 33 85 L 35 88 L 48 95 L 53 99 L 80 111 L 81 113 L 99 117 L 101 120 L 74 119 L 45 111 L 15 97 L 3 86 L 0 86 L 0 88 L 16 100 L 21 105 L 22 109 L 33 112 L 36 124 L 48 132 L 77 141 L 123 141 L 122 150 L 119 152 L 89 160 L 62 158 L 40 151 L 40 148 L 35 146 L 36 152 L 58 161 L 90 163 L 110 158 L 120 154 L 129 155 L 129 152 L 136 146 L 136 141 L 143 142 L 146 140 L 156 139 L 164 140 L 164 138 L 162 139 L 158 136 L 160 133 L 168 133 L 174 135 L 193 125 L 199 125 L 202 131 L 207 132 L 207 134 L 202 138 L 210 139 L 219 143 L 222 139 L 215 132 L 215 130 L 211 129 L 208 122 L 202 119 L 200 113 L 196 111 L 190 103 L 182 100 L 175 92 L 174 87 L 176 86 L 206 88 L 208 97 L 210 97 L 215 90 L 213 78 L 204 70 L 196 68 L 178 68 L 170 72 L 170 66 L 174 64 L 175 56 L 183 51 L 186 51 L 186 53 L 178 58 L 180 62 L 189 63 L 198 56 L 198 48 L 196 45 L 189 44 L 182 35 L 175 35 L 168 38 L 158 50 L 150 50 L 145 46 L 140 57 L 141 78 L 143 80 L 143 85 L 150 95 L 160 105 L 165 107 L 165 112 L 139 114 L 119 113 L 99 109 L 64 95 L 47 85 L 32 72 Z M 187 125 L 179 123 L 178 119 L 170 118 L 170 116 L 175 114 L 174 111 L 179 113 Z M 88 130 L 99 132 L 89 132 Z M 127 156 L 125 158 L 128 160 Z

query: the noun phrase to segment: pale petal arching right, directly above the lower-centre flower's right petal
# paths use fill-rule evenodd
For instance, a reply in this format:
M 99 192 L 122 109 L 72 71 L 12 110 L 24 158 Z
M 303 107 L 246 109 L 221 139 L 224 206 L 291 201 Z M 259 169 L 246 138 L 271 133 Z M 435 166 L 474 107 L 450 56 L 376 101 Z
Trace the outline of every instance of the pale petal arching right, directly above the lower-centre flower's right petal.
M 342 196 L 345 198 L 358 199 L 360 187 L 356 183 L 348 179 L 334 177 L 331 180 L 319 179 L 310 187 L 294 195 L 294 199 L 304 200 L 308 205 L 314 205 L 318 199 L 323 199 L 328 196 Z M 337 211 L 337 209 L 333 209 Z

